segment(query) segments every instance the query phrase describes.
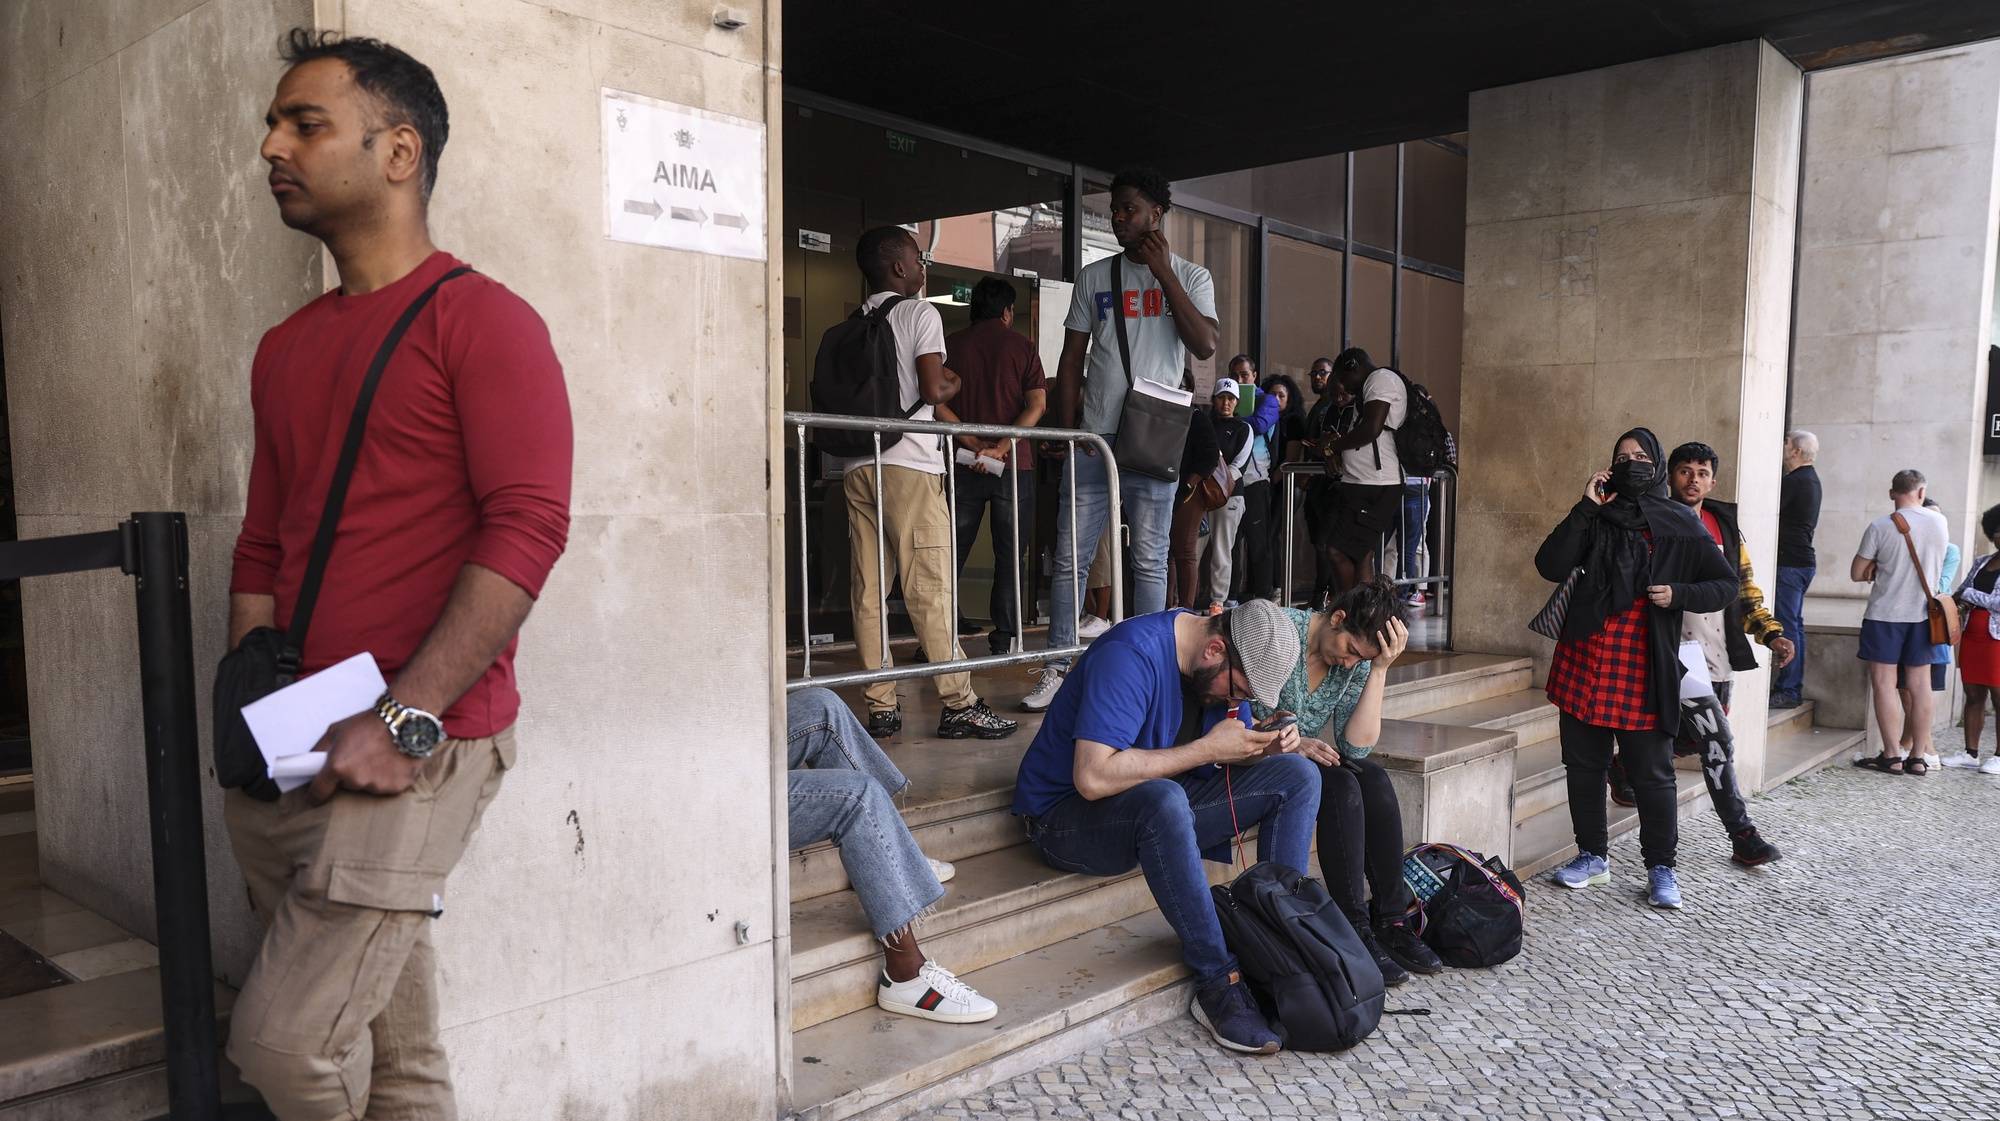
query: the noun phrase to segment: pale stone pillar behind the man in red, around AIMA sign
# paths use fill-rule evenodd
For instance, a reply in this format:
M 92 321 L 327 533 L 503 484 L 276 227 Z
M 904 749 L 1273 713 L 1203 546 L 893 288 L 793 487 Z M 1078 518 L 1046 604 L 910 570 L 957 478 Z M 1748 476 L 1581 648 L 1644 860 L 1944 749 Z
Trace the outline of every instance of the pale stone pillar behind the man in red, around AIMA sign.
M 256 156 L 284 28 L 386 38 L 436 70 L 452 132 L 432 232 L 550 326 L 578 434 L 570 548 L 522 639 L 520 763 L 438 925 L 466 1117 L 772 1117 L 784 1099 L 778 254 L 606 240 L 598 120 L 610 86 L 768 122 L 780 182 L 778 4 L 746 8 L 736 32 L 708 4 L 602 0 L 88 0 L 0 20 L 22 532 L 190 510 L 204 667 L 250 356 L 328 276 Z M 776 194 L 770 210 L 776 230 Z M 30 589 L 28 653 L 44 873 L 146 931 L 126 583 Z M 256 931 L 214 797 L 210 853 L 240 981 Z

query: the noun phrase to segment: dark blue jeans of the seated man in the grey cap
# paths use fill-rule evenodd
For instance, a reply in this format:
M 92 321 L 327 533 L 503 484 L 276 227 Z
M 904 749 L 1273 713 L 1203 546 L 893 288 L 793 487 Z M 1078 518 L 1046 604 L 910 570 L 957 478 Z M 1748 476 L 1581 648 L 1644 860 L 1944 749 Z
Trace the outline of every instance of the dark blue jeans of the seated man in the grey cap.
M 1130 749 L 1138 751 L 1138 749 Z M 1202 849 L 1226 845 L 1236 827 L 1262 825 L 1260 861 L 1308 871 L 1312 825 L 1320 817 L 1320 769 L 1302 755 L 1278 755 L 1256 767 L 1234 767 L 1236 819 L 1222 771 L 1148 779 L 1108 799 L 1070 795 L 1028 821 L 1028 841 L 1050 867 L 1084 875 L 1124 875 L 1138 865 L 1166 921 L 1180 935 L 1180 953 L 1206 985 L 1236 969 L 1222 941 L 1216 905 L 1202 871 Z

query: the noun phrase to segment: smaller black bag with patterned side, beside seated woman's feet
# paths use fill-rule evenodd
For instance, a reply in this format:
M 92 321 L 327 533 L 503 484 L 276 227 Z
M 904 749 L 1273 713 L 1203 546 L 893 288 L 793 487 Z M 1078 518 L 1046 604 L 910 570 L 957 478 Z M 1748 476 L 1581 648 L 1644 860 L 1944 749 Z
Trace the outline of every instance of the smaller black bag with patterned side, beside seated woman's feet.
M 1500 965 L 1520 953 L 1520 877 L 1500 857 L 1458 845 L 1416 845 L 1402 857 L 1402 879 L 1422 911 L 1424 943 L 1446 965 Z

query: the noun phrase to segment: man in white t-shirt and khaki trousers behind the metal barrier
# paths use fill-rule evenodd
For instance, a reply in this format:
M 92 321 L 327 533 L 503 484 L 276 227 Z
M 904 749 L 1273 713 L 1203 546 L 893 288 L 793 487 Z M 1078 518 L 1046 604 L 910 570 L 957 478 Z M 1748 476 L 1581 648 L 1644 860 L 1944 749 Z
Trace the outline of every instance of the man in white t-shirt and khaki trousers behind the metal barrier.
M 896 382 L 902 406 L 922 406 L 912 420 L 932 420 L 936 404 L 958 394 L 958 374 L 944 364 L 944 320 L 938 308 L 924 300 L 924 254 L 916 238 L 902 226 L 880 226 L 854 244 L 854 260 L 868 280 L 864 310 L 888 300 L 888 322 L 896 330 Z M 854 611 L 854 647 L 862 665 L 882 669 L 892 665 L 882 649 L 882 591 L 902 575 L 902 603 L 910 625 L 932 663 L 962 659 L 958 621 L 952 619 L 952 581 L 958 565 L 952 556 L 952 514 L 944 498 L 944 438 L 930 432 L 910 432 L 882 448 L 882 544 L 884 575 L 876 573 L 876 480 L 874 458 L 848 460 L 842 488 L 848 496 L 848 542 L 852 571 L 848 605 Z M 938 735 L 944 739 L 1004 739 L 1016 723 L 1000 719 L 972 693 L 970 673 L 946 673 L 932 679 L 944 701 Z M 876 739 L 902 731 L 902 709 L 896 705 L 896 683 L 880 681 L 868 687 L 868 735 Z

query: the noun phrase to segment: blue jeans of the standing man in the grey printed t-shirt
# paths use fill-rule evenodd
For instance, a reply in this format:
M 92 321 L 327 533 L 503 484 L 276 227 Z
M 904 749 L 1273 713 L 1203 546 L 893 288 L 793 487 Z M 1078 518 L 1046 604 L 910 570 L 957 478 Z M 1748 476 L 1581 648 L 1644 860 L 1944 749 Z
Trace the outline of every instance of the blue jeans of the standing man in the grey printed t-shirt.
M 1110 442 L 1106 438 L 1106 442 Z M 1106 524 L 1116 524 L 1112 512 L 1110 476 L 1104 472 L 1104 456 L 1070 452 L 1076 460 L 1076 536 L 1070 536 L 1070 468 L 1062 472 L 1062 506 L 1056 508 L 1056 556 L 1050 565 L 1050 621 L 1048 649 L 1076 645 L 1076 593 L 1088 583 L 1090 558 L 1096 556 L 1098 538 Z M 1132 522 L 1132 595 L 1126 615 L 1152 615 L 1166 611 L 1166 542 L 1174 530 L 1174 490 L 1176 482 L 1152 478 L 1134 470 L 1118 470 L 1120 498 L 1126 520 Z M 1074 540 L 1074 548 L 1072 548 Z M 1076 552 L 1072 556 L 1072 552 Z M 1076 581 L 1072 587 L 1070 581 Z M 1066 659 L 1050 661 L 1056 669 L 1068 669 Z

